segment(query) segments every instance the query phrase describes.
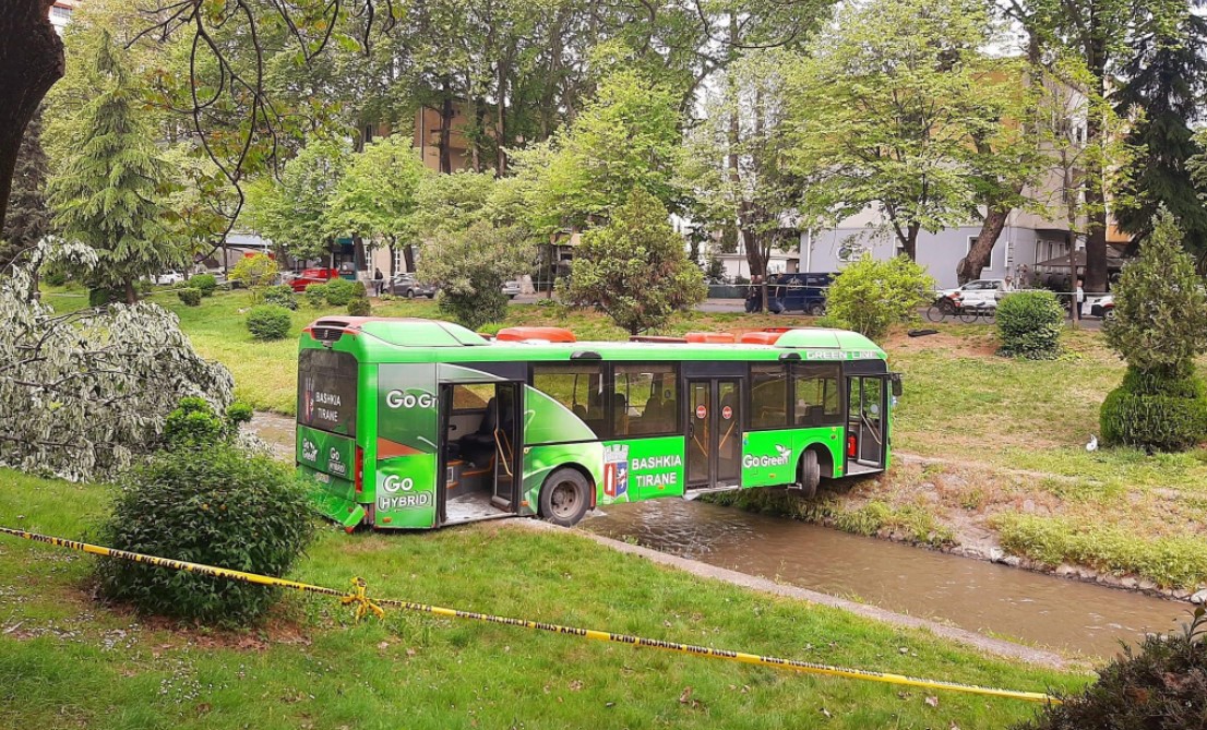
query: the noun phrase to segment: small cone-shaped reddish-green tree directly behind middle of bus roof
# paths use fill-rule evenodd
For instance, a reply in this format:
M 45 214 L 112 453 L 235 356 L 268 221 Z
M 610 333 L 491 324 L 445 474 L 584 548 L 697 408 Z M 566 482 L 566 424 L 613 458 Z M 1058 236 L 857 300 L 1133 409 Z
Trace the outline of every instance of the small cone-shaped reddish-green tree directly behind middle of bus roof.
M 707 296 L 700 268 L 688 261 L 683 236 L 666 209 L 643 188 L 616 209 L 607 226 L 583 235 L 564 294 L 594 305 L 629 334 L 666 323 Z

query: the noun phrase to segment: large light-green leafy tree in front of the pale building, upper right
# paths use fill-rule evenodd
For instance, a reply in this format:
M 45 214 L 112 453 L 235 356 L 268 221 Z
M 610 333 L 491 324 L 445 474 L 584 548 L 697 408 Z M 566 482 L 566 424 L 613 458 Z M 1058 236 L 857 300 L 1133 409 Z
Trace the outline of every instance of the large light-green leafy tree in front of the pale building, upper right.
M 915 258 L 920 230 L 960 226 L 990 197 L 1016 204 L 1038 150 L 1019 130 L 1032 104 L 1021 64 L 984 51 L 1001 42 L 982 0 L 842 7 L 789 77 L 806 222 L 876 206 Z

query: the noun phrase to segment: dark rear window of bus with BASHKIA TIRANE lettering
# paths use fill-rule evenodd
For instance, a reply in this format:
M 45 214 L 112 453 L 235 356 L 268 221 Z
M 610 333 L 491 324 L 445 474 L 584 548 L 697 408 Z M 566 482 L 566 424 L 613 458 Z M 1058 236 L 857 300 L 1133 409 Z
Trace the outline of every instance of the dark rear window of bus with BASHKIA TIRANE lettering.
M 356 436 L 356 358 L 348 352 L 298 355 L 298 425 Z

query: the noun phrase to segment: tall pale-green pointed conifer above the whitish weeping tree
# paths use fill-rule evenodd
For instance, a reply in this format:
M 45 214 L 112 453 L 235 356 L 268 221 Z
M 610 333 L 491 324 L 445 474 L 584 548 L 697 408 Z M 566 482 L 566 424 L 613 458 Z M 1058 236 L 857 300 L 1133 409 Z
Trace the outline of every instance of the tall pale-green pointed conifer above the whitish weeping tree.
M 181 265 L 185 247 L 167 224 L 168 170 L 135 112 L 123 53 L 106 31 L 98 41 L 93 83 L 99 93 L 83 110 L 83 129 L 48 193 L 62 234 L 97 250 L 100 262 L 89 285 L 124 292 L 133 303 L 134 282 Z

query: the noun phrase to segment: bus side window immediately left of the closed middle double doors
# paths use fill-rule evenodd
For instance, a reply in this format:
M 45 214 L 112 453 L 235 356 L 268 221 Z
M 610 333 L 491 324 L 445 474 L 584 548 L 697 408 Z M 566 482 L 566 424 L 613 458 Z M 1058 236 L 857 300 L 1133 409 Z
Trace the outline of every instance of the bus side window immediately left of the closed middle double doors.
M 678 373 L 671 363 L 616 366 L 612 436 L 678 431 Z

